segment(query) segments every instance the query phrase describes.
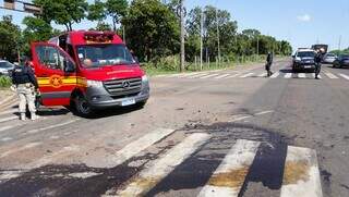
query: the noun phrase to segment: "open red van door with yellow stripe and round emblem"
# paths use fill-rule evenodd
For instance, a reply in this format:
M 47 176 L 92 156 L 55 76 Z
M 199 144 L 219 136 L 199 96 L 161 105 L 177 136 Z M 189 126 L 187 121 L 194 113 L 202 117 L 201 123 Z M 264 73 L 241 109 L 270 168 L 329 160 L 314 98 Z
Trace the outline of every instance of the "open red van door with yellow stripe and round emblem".
M 76 65 L 60 47 L 36 42 L 32 45 L 35 75 L 44 106 L 69 106 L 76 87 Z

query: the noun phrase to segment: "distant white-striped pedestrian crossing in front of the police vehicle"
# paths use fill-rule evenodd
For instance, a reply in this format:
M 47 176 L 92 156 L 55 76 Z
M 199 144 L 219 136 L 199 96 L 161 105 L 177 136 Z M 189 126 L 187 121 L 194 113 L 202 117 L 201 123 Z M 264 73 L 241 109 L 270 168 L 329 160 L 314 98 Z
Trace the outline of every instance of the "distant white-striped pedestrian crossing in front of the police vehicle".
M 167 78 L 178 77 L 182 79 L 228 79 L 228 78 L 284 78 L 284 79 L 292 79 L 292 78 L 300 78 L 300 79 L 312 79 L 315 78 L 314 73 L 291 73 L 291 72 L 275 72 L 270 77 L 267 77 L 265 72 L 241 72 L 241 73 L 227 73 L 227 71 L 221 71 L 219 73 L 210 73 L 210 72 L 198 72 L 198 73 L 185 73 L 185 74 L 177 74 L 177 75 L 169 75 L 166 76 Z M 323 71 L 320 75 L 320 78 L 328 78 L 328 79 L 345 79 L 349 81 L 349 74 L 338 73 L 334 74 L 328 71 Z

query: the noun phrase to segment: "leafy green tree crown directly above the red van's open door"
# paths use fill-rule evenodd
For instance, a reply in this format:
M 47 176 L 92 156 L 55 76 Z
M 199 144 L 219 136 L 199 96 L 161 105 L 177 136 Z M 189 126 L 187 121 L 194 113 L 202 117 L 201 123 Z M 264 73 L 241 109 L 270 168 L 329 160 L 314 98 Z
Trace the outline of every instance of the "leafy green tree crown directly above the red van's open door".
M 33 0 L 33 3 L 43 7 L 44 21 L 64 25 L 67 30 L 72 30 L 72 24 L 86 16 L 88 8 L 86 0 Z

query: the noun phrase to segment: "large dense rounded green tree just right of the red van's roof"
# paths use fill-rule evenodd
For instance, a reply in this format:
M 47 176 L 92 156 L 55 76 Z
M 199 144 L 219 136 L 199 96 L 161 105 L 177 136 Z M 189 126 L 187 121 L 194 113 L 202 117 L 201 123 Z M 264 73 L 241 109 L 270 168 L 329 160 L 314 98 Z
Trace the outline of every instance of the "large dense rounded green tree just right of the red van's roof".
M 179 52 L 179 23 L 174 13 L 158 0 L 134 0 L 123 19 L 128 45 L 141 60 Z

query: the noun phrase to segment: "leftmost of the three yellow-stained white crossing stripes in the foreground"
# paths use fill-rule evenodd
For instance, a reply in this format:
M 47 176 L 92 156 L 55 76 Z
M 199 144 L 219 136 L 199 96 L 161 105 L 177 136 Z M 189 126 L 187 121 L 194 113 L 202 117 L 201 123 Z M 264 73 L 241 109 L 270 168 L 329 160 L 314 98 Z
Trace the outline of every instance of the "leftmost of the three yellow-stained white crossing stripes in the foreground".
M 184 138 L 182 143 L 170 149 L 167 155 L 155 160 L 149 168 L 141 171 L 139 177 L 131 182 L 123 190 L 117 192 L 117 196 L 145 195 L 208 138 L 209 135 L 203 133 L 192 134 Z

